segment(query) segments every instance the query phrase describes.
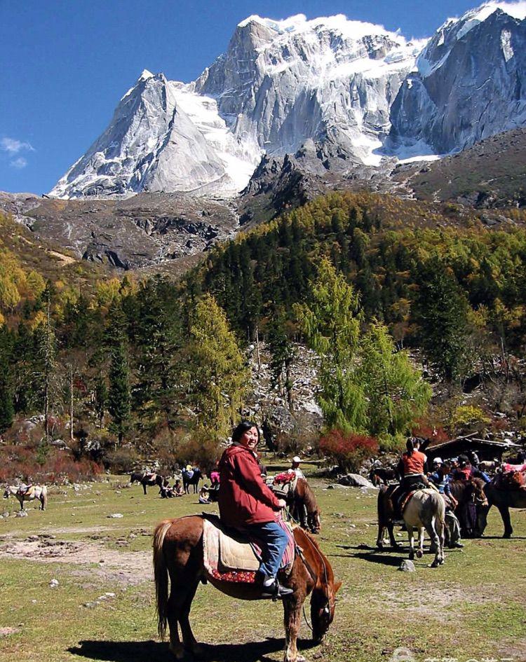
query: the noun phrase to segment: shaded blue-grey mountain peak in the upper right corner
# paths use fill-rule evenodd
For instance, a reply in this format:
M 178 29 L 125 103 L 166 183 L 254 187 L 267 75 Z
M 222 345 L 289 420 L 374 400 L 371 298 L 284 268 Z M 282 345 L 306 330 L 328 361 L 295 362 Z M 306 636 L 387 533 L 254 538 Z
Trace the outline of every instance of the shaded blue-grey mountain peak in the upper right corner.
M 438 29 L 391 109 L 387 145 L 446 154 L 526 125 L 526 2 L 490 2 Z

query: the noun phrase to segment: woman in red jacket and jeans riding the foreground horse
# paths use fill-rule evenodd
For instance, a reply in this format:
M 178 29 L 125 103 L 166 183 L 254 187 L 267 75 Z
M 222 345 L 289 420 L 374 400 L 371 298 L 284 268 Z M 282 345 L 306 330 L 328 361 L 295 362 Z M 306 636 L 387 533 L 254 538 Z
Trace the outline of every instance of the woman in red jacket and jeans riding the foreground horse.
M 232 433 L 232 443 L 219 463 L 220 490 L 217 501 L 221 520 L 246 530 L 263 543 L 258 574 L 263 598 L 281 598 L 292 589 L 278 584 L 276 575 L 288 543 L 278 524 L 278 513 L 286 504 L 265 485 L 257 464 L 259 429 L 251 421 L 241 421 Z

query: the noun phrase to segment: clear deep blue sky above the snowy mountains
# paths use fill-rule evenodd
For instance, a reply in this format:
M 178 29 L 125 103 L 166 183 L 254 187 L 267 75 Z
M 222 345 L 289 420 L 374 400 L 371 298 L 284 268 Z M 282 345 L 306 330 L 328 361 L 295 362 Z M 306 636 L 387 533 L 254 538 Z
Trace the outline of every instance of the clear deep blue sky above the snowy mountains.
M 0 0 L 0 190 L 49 191 L 142 69 L 191 81 L 251 14 L 343 13 L 429 36 L 475 1 Z

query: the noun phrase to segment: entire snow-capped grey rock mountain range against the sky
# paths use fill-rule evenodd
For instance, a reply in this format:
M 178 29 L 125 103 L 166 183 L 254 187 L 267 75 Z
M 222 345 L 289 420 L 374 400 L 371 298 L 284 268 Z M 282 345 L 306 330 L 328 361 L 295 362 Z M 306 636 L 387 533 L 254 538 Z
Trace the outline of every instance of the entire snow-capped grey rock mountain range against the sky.
M 193 83 L 144 71 L 51 195 L 235 193 L 264 153 L 305 144 L 355 169 L 462 149 L 526 123 L 525 16 L 492 2 L 429 42 L 342 15 L 250 16 Z

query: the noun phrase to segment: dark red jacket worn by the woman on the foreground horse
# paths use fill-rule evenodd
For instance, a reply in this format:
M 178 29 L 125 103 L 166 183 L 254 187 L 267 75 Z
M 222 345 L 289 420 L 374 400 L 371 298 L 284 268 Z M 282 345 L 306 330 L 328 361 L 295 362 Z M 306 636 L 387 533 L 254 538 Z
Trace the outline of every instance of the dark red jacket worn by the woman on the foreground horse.
M 243 528 L 250 524 L 275 522 L 278 498 L 265 485 L 254 454 L 245 446 L 229 446 L 220 463 L 217 502 L 222 521 Z

